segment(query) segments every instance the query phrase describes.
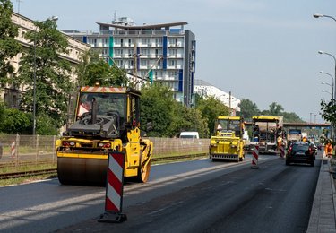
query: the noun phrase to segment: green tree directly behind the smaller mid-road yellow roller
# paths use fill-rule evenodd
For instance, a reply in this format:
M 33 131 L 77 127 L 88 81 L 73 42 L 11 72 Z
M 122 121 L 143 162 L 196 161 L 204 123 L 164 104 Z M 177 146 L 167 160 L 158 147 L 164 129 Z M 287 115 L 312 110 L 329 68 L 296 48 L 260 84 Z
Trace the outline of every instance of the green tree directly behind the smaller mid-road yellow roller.
M 208 125 L 208 132 L 212 135 L 214 133 L 215 120 L 218 116 L 228 116 L 228 107 L 226 107 L 220 99 L 216 99 L 212 96 L 196 100 L 196 108 L 201 111 L 202 117 Z

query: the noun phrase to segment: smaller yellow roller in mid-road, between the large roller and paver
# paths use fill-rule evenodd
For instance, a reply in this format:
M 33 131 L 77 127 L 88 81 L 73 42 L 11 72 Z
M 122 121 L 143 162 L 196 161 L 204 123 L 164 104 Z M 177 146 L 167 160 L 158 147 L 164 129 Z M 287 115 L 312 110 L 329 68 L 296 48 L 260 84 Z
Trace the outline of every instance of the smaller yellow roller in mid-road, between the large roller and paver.
M 211 136 L 210 159 L 244 160 L 243 135 L 244 121 L 240 116 L 218 116 Z

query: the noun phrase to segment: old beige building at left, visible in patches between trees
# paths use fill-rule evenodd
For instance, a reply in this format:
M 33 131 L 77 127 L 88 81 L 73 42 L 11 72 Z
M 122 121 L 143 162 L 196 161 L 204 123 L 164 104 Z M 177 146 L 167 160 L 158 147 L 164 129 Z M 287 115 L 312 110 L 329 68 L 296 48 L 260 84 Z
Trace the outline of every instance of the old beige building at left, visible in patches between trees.
M 27 17 L 19 13 L 12 13 L 12 22 L 19 27 L 19 35 L 16 37 L 16 40 L 19 41 L 23 47 L 33 47 L 34 45 L 30 43 L 27 39 L 24 38 L 24 34 L 30 30 L 37 30 L 34 21 L 30 20 Z M 90 49 L 90 45 L 82 43 L 72 37 L 65 35 L 69 43 L 69 54 L 60 54 L 59 56 L 68 60 L 71 64 L 76 65 L 80 62 L 80 55 Z M 12 77 L 16 75 L 19 69 L 19 62 L 22 54 L 18 54 L 17 56 L 11 59 L 11 64 L 14 67 L 14 73 Z M 74 81 L 76 76 L 74 73 L 71 73 L 71 78 Z M 32 81 L 31 81 L 32 82 Z M 25 87 L 22 86 L 14 86 L 13 84 L 7 84 L 6 86 L 1 87 L 0 95 L 4 99 L 4 102 L 11 108 L 18 108 L 20 95 L 22 91 L 25 90 Z

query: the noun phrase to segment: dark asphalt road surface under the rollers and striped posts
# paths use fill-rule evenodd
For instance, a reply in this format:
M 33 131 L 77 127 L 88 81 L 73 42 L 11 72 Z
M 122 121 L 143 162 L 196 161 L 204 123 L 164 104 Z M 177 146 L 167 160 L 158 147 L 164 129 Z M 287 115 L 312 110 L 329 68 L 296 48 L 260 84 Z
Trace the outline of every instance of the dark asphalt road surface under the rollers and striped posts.
M 0 231 L 305 232 L 320 160 L 285 166 L 194 160 L 153 166 L 147 184 L 125 186 L 121 224 L 99 223 L 105 188 L 48 180 L 0 188 Z

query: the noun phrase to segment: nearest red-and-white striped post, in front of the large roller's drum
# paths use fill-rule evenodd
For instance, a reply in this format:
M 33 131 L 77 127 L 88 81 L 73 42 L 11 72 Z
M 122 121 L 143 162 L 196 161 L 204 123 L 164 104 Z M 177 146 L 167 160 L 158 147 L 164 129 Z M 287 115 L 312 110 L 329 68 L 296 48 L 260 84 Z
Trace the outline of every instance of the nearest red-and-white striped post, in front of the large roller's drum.
M 99 222 L 122 222 L 127 217 L 122 213 L 124 191 L 125 153 L 108 153 L 108 172 L 105 198 L 105 213 Z

